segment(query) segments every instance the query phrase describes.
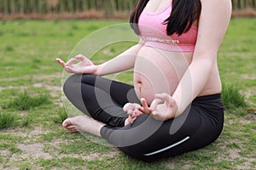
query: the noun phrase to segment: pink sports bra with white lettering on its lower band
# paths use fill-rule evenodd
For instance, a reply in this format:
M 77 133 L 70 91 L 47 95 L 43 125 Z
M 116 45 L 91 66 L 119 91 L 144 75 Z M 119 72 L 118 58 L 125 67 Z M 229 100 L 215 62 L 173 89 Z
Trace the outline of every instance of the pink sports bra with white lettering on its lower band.
M 191 26 L 189 31 L 178 36 L 176 33 L 166 35 L 166 26 L 162 24 L 172 10 L 172 1 L 166 8 L 156 12 L 143 10 L 138 20 L 140 37 L 146 46 L 174 52 L 194 52 L 197 37 L 197 27 Z

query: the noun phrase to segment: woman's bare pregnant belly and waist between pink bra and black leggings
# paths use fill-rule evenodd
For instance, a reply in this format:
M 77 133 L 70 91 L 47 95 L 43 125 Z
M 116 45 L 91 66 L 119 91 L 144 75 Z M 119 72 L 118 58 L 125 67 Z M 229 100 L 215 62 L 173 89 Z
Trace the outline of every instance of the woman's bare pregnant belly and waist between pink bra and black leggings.
M 192 57 L 193 53 L 170 52 L 143 46 L 137 54 L 134 66 L 133 81 L 137 97 L 146 99 L 150 105 L 155 94 L 167 93 L 172 96 Z M 191 84 L 187 88 L 192 90 Z M 215 62 L 211 76 L 198 96 L 218 94 L 220 91 L 221 82 Z

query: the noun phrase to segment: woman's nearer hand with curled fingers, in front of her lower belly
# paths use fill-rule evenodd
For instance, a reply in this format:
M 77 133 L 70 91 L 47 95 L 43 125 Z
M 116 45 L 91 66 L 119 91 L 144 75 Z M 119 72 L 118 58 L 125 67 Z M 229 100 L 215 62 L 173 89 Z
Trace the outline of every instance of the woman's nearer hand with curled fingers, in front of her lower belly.
M 177 102 L 169 94 L 156 94 L 150 107 L 148 107 L 146 99 L 141 99 L 141 102 L 142 107 L 138 110 L 153 116 L 156 120 L 166 121 L 177 114 Z

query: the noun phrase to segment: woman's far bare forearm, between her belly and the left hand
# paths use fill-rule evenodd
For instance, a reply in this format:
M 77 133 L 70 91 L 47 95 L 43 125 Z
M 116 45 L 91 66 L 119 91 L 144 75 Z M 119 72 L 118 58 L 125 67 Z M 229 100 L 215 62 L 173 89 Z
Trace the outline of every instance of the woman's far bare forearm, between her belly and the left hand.
M 138 51 L 143 47 L 143 43 L 138 43 L 125 50 L 113 59 L 108 60 L 102 65 L 97 65 L 96 75 L 104 76 L 120 71 L 127 71 L 134 67 Z

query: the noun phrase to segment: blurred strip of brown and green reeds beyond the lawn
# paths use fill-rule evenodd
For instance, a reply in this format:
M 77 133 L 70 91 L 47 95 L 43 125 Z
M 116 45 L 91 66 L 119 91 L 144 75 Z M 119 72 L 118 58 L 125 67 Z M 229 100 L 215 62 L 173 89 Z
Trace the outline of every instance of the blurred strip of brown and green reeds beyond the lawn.
M 0 0 L 0 19 L 125 19 L 135 3 L 137 0 Z M 234 17 L 256 16 L 256 0 L 232 3 Z

